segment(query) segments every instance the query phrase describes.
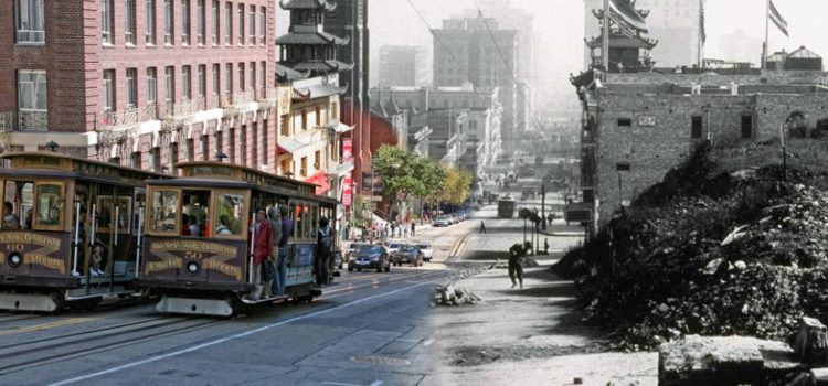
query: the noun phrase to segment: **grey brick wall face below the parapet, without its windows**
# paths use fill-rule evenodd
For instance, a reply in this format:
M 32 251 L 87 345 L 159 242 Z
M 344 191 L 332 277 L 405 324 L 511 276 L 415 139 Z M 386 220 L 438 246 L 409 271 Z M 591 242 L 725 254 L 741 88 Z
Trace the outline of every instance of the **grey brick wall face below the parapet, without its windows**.
M 619 200 L 633 201 L 660 182 L 704 138 L 733 144 L 766 141 L 778 138 L 779 125 L 794 110 L 805 112 L 810 127 L 828 117 L 828 94 L 684 96 L 602 92 L 598 100 L 595 187 L 602 222 L 617 210 Z M 694 116 L 702 120 L 699 139 L 691 138 Z M 750 138 L 742 138 L 743 116 L 753 121 Z M 619 125 L 625 119 L 629 126 Z M 628 163 L 630 170 L 617 171 L 618 163 Z

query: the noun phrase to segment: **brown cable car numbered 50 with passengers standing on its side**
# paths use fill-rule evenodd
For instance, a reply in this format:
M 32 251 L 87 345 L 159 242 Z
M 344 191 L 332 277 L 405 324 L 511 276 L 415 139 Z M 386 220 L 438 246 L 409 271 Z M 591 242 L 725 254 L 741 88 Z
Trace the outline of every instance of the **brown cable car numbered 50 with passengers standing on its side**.
M 159 312 L 230 317 L 263 302 L 321 294 L 314 280 L 318 221 L 335 218 L 336 200 L 317 196 L 314 184 L 241 165 L 195 161 L 177 168 L 179 179 L 147 183 L 139 282 L 160 292 Z M 253 222 L 257 210 L 272 207 L 293 224 L 287 280 L 285 293 L 258 299 L 253 245 L 262 235 Z

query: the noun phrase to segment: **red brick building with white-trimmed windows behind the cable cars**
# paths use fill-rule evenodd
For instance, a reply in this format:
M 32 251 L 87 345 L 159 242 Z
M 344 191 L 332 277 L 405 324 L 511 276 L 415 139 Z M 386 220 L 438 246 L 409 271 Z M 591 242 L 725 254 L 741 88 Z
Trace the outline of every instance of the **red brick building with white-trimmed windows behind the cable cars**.
M 268 0 L 0 4 L 0 147 L 160 170 L 219 151 L 275 171 Z

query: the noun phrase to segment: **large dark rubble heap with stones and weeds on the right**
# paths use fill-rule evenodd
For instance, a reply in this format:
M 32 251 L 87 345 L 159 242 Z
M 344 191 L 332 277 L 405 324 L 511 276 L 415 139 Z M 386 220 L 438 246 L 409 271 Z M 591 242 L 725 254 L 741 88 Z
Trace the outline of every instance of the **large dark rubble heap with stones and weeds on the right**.
M 687 334 L 784 340 L 802 317 L 828 315 L 828 191 L 814 183 L 825 174 L 712 174 L 705 151 L 553 267 L 576 278 L 587 319 L 619 349 Z

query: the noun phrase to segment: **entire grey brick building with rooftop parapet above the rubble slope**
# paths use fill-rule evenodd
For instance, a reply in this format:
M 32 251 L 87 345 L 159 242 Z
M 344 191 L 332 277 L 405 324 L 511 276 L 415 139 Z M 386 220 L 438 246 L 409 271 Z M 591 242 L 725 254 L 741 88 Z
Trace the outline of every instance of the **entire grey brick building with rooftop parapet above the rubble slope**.
M 821 72 L 588 72 L 572 83 L 583 106 L 582 205 L 594 211 L 593 229 L 707 141 L 767 141 L 793 115 L 808 127 L 828 117 Z

